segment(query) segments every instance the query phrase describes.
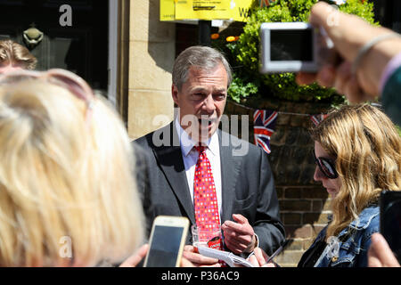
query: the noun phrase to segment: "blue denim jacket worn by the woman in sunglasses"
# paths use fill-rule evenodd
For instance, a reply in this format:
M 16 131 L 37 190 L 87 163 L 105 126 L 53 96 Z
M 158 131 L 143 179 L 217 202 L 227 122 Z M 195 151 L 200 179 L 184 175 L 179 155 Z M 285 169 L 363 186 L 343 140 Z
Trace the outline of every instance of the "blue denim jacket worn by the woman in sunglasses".
M 364 208 L 358 219 L 342 230 L 337 238 L 340 240 L 338 255 L 326 255 L 316 267 L 366 267 L 367 253 L 371 245 L 371 236 L 380 229 L 380 209 L 377 206 Z M 327 226 L 319 232 L 311 248 L 323 240 Z

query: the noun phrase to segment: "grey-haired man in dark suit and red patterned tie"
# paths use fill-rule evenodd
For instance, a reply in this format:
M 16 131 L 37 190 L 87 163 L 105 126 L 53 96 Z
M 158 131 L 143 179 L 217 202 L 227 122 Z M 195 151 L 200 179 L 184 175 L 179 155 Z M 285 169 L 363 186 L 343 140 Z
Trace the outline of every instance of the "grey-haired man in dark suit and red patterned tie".
M 231 79 L 229 64 L 212 48 L 192 46 L 177 57 L 172 85 L 178 106 L 175 120 L 134 142 L 145 152 L 147 183 L 138 188 L 143 191 L 148 231 L 159 215 L 186 216 L 191 224 L 201 223 L 195 202 L 199 199 L 194 198 L 199 186 L 194 181 L 202 179 L 197 178 L 197 162 L 207 157 L 225 248 L 249 254 L 258 246 L 272 254 L 284 240 L 284 229 L 266 153 L 217 129 Z M 186 246 L 184 256 L 195 264 L 208 263 L 193 251 Z

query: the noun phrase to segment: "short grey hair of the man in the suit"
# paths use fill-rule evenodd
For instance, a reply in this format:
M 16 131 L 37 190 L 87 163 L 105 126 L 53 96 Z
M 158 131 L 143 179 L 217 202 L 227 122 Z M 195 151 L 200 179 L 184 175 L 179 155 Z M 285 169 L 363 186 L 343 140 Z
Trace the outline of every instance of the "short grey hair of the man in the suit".
M 176 58 L 173 67 L 173 84 L 176 85 L 178 90 L 188 80 L 188 70 L 191 67 L 197 69 L 216 69 L 218 64 L 223 64 L 227 72 L 227 84 L 231 84 L 233 79 L 230 64 L 225 59 L 223 53 L 218 52 L 216 49 L 209 46 L 191 46 L 180 53 Z

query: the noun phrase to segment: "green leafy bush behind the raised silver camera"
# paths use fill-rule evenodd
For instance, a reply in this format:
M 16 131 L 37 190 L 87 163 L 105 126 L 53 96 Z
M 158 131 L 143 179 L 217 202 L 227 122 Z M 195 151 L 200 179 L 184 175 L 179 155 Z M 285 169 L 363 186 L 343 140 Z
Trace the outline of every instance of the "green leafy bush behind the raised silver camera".
M 275 97 L 294 102 L 344 102 L 344 97 L 333 89 L 319 85 L 299 86 L 295 75 L 282 73 L 262 75 L 259 73 L 259 29 L 263 22 L 307 21 L 311 7 L 317 0 L 277 0 L 268 7 L 256 6 L 243 28 L 239 40 L 226 45 L 230 63 L 235 73 L 229 96 L 239 102 L 250 96 Z M 369 22 L 374 22 L 373 4 L 368 1 L 348 0 L 340 5 L 340 11 L 356 14 Z M 258 88 L 258 92 L 255 92 Z

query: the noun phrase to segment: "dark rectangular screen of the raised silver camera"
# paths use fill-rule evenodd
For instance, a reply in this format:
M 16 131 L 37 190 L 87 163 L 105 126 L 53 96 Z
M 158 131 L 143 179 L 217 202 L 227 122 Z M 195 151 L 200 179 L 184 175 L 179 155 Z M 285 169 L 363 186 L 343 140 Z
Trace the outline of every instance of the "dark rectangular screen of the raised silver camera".
M 313 61 L 313 30 L 272 29 L 270 31 L 271 61 Z

